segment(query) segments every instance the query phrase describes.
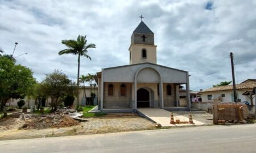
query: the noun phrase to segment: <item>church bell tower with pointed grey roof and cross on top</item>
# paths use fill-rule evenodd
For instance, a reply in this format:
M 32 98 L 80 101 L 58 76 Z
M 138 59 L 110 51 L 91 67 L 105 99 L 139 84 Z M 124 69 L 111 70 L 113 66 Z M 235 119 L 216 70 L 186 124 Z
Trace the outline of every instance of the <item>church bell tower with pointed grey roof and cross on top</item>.
M 142 21 L 143 16 L 140 16 L 141 23 L 133 31 L 131 35 L 130 65 L 137 63 L 155 63 L 156 64 L 156 45 L 154 42 L 154 33 Z

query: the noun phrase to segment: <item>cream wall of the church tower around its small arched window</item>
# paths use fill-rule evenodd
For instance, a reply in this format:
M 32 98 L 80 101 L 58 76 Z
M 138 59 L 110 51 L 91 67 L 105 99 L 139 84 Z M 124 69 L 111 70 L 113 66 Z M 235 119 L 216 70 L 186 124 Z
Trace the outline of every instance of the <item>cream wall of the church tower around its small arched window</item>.
M 146 58 L 142 58 L 142 49 L 146 49 Z M 129 48 L 131 52 L 130 64 L 137 63 L 155 63 L 156 64 L 156 46 L 155 45 L 142 45 L 142 44 L 131 44 Z

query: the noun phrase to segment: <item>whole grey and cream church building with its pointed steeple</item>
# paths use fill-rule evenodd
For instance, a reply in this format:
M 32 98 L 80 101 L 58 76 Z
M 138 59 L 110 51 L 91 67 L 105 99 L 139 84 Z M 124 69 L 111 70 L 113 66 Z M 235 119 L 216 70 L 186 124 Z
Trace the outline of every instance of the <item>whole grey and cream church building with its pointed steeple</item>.
M 104 110 L 179 107 L 180 84 L 185 84 L 191 108 L 188 71 L 157 64 L 154 33 L 144 22 L 131 36 L 129 65 L 108 67 L 97 73 L 98 106 Z

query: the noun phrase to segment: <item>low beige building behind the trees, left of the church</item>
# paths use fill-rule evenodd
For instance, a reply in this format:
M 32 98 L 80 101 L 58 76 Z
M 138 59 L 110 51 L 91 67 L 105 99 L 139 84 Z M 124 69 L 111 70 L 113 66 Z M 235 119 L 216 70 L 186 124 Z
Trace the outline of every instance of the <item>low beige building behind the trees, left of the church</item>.
M 84 88 L 85 88 L 85 93 L 84 93 Z M 92 86 L 92 88 L 90 88 L 89 86 L 82 86 L 80 87 L 79 89 L 79 103 L 80 105 L 82 105 L 82 98 L 85 97 L 85 94 L 86 94 L 86 97 L 87 97 L 87 101 L 90 100 L 90 92 L 92 93 L 95 93 L 96 94 L 96 97 L 94 99 L 94 101 L 91 101 L 92 104 L 96 105 L 97 104 L 97 96 L 98 96 L 98 87 L 94 87 Z M 21 99 L 9 99 L 6 103 L 6 106 L 7 107 L 18 107 L 17 105 L 17 102 L 21 100 Z M 22 99 L 26 102 L 26 104 L 24 105 L 24 107 L 30 107 L 31 105 L 35 105 L 35 99 L 32 99 L 30 97 L 24 97 L 24 99 Z M 49 107 L 51 106 L 51 98 L 48 97 L 47 99 L 43 99 L 42 100 L 42 106 L 43 107 Z

